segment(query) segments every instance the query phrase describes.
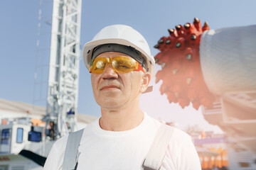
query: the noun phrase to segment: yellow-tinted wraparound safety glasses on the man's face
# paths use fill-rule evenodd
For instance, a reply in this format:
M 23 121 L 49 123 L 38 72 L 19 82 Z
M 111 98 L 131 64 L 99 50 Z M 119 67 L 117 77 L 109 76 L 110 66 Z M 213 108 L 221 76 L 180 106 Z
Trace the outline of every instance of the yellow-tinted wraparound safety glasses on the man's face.
M 111 64 L 114 71 L 119 73 L 144 72 L 141 64 L 132 57 L 117 56 L 110 58 L 96 57 L 95 60 L 90 62 L 90 73 L 101 74 L 108 64 Z

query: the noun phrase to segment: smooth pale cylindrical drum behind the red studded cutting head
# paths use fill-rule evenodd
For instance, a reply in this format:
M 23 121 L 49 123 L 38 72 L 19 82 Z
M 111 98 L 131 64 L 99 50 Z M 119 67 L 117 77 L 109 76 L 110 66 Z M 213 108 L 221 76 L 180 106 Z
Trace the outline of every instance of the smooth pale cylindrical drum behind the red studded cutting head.
M 205 31 L 200 62 L 213 94 L 255 92 L 256 25 Z

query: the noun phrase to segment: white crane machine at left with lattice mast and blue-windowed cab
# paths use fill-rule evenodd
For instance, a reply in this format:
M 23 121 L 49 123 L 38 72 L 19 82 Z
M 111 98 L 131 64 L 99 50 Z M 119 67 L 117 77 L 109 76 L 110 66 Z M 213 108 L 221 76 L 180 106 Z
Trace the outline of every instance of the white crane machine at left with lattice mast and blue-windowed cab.
M 2 170 L 43 169 L 53 142 L 69 132 L 78 130 L 76 115 L 82 0 L 53 0 L 46 3 L 53 6 L 53 15 L 51 20 L 42 23 L 40 8 L 38 29 L 43 24 L 51 26 L 50 48 L 40 48 L 43 41 L 39 39 L 37 41 L 38 56 L 50 56 L 49 63 L 46 64 L 49 73 L 46 116 L 43 118 L 44 123 L 34 123 L 28 117 L 2 120 L 0 125 L 0 169 Z M 44 35 L 46 33 L 38 33 L 38 36 Z M 38 67 L 45 67 L 39 57 L 37 62 Z M 38 74 L 35 78 L 38 78 Z

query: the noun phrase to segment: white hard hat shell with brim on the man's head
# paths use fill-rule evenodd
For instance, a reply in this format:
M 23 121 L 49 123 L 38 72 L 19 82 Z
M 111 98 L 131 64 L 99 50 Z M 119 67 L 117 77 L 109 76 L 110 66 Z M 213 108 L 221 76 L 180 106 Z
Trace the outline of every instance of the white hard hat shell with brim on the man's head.
M 89 69 L 90 61 L 92 60 L 92 50 L 104 44 L 119 44 L 134 47 L 146 57 L 146 64 L 149 68 L 151 77 L 154 77 L 156 72 L 156 65 L 154 57 L 151 55 L 149 45 L 145 38 L 130 26 L 125 25 L 112 25 L 107 26 L 100 30 L 97 35 L 90 41 L 87 42 L 82 51 L 82 57 L 84 60 L 85 67 Z

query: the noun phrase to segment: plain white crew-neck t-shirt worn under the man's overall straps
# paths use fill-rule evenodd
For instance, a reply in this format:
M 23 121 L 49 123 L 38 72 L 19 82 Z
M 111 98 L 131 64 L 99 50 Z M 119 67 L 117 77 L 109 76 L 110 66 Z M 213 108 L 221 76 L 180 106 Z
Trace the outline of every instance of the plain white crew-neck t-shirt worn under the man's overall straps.
M 78 170 L 133 170 L 142 169 L 161 123 L 144 114 L 144 120 L 132 130 L 113 132 L 102 130 L 99 119 L 85 128 L 78 151 Z M 62 169 L 68 135 L 53 145 L 44 166 L 45 170 Z M 191 137 L 178 129 L 166 148 L 161 170 L 201 169 Z

